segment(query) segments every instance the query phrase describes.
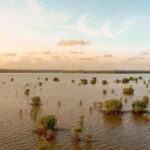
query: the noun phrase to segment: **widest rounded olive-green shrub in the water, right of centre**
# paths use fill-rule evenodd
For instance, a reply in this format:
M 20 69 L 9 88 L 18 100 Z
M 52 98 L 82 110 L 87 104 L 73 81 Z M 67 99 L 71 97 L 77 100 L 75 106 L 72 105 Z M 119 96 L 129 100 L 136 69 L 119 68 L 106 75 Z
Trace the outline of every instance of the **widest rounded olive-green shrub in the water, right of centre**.
M 106 114 L 120 113 L 122 108 L 122 102 L 116 99 L 106 100 L 102 105 L 102 111 Z

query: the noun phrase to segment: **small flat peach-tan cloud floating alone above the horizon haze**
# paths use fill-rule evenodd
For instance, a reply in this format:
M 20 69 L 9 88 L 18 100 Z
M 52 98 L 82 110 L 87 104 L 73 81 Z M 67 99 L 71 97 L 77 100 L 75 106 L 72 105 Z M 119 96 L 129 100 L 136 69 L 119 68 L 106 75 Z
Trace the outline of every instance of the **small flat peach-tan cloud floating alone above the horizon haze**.
M 61 40 L 60 42 L 58 42 L 58 45 L 60 46 L 85 46 L 89 44 L 89 41 L 84 40 Z

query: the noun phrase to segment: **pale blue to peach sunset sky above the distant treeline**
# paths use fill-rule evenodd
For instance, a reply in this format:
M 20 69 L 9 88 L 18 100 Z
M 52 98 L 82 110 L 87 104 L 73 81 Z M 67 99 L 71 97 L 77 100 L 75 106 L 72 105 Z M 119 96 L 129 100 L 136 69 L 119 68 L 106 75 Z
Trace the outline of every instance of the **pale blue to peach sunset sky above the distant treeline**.
M 150 69 L 148 0 L 0 0 L 2 69 Z

